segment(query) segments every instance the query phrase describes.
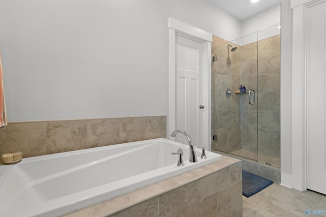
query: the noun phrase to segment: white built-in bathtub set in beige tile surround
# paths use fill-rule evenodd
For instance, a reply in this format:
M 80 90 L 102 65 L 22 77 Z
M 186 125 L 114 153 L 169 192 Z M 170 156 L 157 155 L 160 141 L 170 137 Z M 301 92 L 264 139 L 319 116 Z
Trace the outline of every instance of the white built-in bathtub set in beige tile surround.
M 183 149 L 185 166 L 170 154 Z M 0 216 L 58 216 L 219 161 L 189 163 L 188 145 L 152 139 L 50 154 L 0 166 Z

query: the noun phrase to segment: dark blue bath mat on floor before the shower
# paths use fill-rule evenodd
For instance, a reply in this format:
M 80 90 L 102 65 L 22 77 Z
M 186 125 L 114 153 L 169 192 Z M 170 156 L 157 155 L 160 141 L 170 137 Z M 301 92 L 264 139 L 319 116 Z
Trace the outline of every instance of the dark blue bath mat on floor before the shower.
M 260 177 L 242 170 L 242 195 L 250 197 L 269 185 L 273 184 L 273 181 Z

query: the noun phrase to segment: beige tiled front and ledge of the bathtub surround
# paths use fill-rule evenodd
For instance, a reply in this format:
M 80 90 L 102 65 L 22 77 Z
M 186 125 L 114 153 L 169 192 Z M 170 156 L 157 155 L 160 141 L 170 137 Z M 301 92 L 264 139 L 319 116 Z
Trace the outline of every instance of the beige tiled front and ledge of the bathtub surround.
M 65 215 L 242 216 L 240 160 L 222 160 Z

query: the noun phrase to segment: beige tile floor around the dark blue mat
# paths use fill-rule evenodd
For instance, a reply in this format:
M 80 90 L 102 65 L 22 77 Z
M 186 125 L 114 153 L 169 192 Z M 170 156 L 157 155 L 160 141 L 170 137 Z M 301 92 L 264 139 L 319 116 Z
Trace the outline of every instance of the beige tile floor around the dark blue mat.
M 306 214 L 306 210 L 315 213 Z M 321 210 L 321 215 L 317 210 Z M 273 183 L 249 198 L 242 196 L 242 214 L 243 217 L 326 216 L 326 196 L 313 191 L 300 192 Z

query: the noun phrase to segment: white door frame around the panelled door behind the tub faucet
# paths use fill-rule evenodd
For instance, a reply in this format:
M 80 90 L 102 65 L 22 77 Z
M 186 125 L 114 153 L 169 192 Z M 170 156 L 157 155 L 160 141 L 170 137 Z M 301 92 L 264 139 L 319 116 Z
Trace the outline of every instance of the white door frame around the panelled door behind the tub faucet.
M 208 145 L 210 150 L 211 144 L 211 42 L 212 34 L 202 29 L 188 25 L 179 20 L 169 17 L 169 110 L 167 117 L 167 138 L 175 140 L 171 137 L 176 126 L 176 69 L 175 69 L 175 43 L 176 35 L 192 39 L 203 44 L 203 132 L 204 143 L 198 144 L 199 147 Z

